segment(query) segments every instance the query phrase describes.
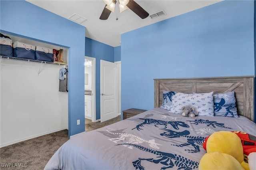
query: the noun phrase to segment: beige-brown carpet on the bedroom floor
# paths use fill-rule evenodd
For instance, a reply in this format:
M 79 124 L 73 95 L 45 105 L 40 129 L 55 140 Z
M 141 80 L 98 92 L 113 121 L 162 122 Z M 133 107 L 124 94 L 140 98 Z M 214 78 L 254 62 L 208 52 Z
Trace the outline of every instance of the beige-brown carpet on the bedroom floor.
M 120 116 L 103 123 L 86 120 L 86 132 L 120 121 Z M 0 148 L 1 170 L 43 170 L 54 152 L 68 138 L 68 130 L 61 130 L 37 138 Z M 9 167 L 5 167 L 8 165 Z M 23 166 L 23 167 L 17 167 Z

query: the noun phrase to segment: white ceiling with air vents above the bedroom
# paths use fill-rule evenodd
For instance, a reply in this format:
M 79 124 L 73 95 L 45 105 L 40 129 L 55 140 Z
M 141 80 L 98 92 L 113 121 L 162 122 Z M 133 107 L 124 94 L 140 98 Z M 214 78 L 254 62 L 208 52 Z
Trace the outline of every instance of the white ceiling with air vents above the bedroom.
M 222 0 L 134 0 L 149 14 L 161 10 L 165 16 L 151 19 L 149 16 L 141 19 L 130 9 L 119 13 L 116 5 L 108 20 L 100 20 L 100 14 L 105 6 L 103 0 L 27 0 L 28 2 L 53 12 L 64 18 L 73 14 L 82 16 L 87 21 L 81 25 L 86 27 L 85 36 L 113 47 L 121 45 L 121 34 L 208 6 Z M 116 18 L 118 17 L 118 20 Z

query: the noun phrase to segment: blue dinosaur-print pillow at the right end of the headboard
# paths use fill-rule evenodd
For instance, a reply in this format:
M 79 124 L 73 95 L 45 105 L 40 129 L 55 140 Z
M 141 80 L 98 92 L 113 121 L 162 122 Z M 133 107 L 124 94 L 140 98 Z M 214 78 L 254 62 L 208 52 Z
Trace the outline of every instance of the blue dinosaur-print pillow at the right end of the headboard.
M 234 91 L 214 93 L 214 116 L 238 117 Z

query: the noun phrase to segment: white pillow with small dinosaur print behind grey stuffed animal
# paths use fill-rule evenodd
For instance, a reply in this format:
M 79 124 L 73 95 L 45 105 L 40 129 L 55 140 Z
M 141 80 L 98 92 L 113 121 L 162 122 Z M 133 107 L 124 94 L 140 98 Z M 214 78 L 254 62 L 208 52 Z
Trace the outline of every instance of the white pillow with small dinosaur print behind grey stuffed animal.
M 213 91 L 210 93 L 176 93 L 172 97 L 172 108 L 171 112 L 180 113 L 181 108 L 185 105 L 191 105 L 196 107 L 198 115 L 201 116 L 214 116 L 214 102 L 213 102 Z

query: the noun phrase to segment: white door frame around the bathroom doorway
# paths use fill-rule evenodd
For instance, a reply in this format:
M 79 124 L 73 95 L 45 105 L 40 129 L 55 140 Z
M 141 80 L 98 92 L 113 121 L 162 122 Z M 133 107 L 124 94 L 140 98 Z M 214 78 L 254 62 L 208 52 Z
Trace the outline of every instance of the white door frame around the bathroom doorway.
M 92 122 L 96 122 L 96 58 L 84 56 L 84 59 L 92 60 Z

